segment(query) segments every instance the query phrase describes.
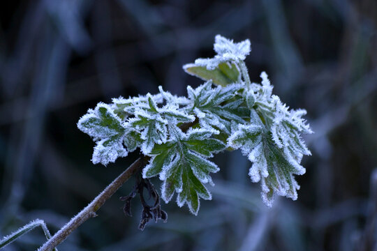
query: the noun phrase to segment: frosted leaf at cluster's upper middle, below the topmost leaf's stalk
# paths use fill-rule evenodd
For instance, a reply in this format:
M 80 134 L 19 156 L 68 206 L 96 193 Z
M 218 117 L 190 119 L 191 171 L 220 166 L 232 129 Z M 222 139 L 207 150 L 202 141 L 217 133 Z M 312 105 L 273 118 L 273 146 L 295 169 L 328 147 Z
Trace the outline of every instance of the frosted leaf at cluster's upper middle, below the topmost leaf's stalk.
M 236 98 L 241 84 L 230 84 L 226 87 L 217 86 L 212 89 L 212 82 L 207 82 L 197 89 L 187 87 L 188 98 L 192 100 L 190 111 L 198 117 L 202 128 L 214 128 L 230 133 L 232 121 L 245 123 L 249 117 L 249 109 L 242 106 L 244 100 Z

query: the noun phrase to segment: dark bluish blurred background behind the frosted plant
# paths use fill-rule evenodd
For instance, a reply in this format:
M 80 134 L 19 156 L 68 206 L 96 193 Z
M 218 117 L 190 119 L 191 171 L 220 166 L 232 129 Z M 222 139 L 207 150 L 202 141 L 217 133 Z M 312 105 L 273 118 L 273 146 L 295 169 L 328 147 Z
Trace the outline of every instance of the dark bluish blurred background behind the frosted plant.
M 0 236 L 30 220 L 55 232 L 138 153 L 103 167 L 76 128 L 118 96 L 186 95 L 184 63 L 213 56 L 214 36 L 249 38 L 251 80 L 305 108 L 314 135 L 299 198 L 262 204 L 239 152 L 215 161 L 212 201 L 197 217 L 175 201 L 167 223 L 138 230 L 122 212 L 128 181 L 59 250 L 377 250 L 376 0 L 36 0 L 0 7 Z M 373 178 L 374 177 L 374 178 Z M 158 178 L 152 180 L 159 186 Z M 41 229 L 4 250 L 35 250 Z

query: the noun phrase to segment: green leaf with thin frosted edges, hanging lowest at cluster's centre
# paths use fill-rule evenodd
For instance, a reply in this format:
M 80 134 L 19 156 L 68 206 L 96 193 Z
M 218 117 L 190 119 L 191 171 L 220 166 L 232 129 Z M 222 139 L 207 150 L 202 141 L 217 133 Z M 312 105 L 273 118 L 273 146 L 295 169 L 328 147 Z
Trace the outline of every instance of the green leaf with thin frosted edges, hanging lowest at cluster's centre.
M 159 176 L 162 185 L 162 198 L 168 202 L 177 192 L 177 204 L 188 205 L 191 213 L 199 210 L 199 197 L 211 199 L 205 183 L 212 183 L 211 172 L 218 172 L 219 167 L 207 160 L 212 153 L 218 153 L 225 145 L 210 138 L 211 130 L 193 129 L 187 133 L 179 128 L 175 130 L 177 140 L 155 145 L 151 151 L 149 165 L 143 169 L 143 178 Z

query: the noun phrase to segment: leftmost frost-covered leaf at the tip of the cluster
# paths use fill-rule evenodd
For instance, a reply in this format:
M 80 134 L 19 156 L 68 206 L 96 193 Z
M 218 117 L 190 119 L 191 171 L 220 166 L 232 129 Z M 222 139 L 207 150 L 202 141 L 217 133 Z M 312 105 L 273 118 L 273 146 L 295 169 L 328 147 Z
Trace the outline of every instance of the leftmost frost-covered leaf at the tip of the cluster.
M 100 103 L 96 109 L 78 121 L 77 127 L 94 138 L 97 143 L 91 161 L 94 164 L 108 165 L 118 157 L 125 157 L 128 152 L 123 146 L 124 123 L 112 112 L 109 105 Z

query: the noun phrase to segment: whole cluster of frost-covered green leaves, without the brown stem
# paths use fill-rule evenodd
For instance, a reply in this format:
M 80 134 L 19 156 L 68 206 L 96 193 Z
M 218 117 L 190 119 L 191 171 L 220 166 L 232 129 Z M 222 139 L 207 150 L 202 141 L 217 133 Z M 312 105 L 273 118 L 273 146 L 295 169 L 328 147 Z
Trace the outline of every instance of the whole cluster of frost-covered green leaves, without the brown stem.
M 156 95 L 114 98 L 89 109 L 77 126 L 96 146 L 92 161 L 108 165 L 128 152 L 140 149 L 150 157 L 143 178 L 162 181 L 161 197 L 175 194 L 178 206 L 187 204 L 197 214 L 199 199 L 211 199 L 205 184 L 219 167 L 214 153 L 241 149 L 252 162 L 251 181 L 260 182 L 263 201 L 272 206 L 275 195 L 297 198 L 294 175 L 309 155 L 302 134 L 311 133 L 302 119 L 306 112 L 289 109 L 272 95 L 266 73 L 261 84 L 250 83 L 243 60 L 250 41 L 233 43 L 216 36 L 213 59 L 197 59 L 184 70 L 205 79 L 198 88 L 187 87 L 187 97 L 177 97 L 159 87 Z

